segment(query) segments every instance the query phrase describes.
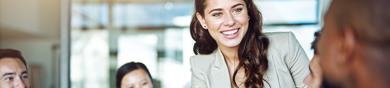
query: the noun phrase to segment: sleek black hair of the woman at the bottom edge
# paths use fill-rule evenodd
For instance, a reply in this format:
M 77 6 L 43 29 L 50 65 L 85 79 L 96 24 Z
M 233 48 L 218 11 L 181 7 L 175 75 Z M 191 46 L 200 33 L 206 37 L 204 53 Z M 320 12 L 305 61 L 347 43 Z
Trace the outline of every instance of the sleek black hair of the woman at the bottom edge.
M 146 66 L 143 63 L 130 62 L 124 64 L 122 67 L 118 69 L 117 80 L 116 80 L 117 88 L 121 87 L 123 76 L 136 69 L 144 69 L 145 72 L 147 72 L 147 74 L 149 75 L 150 79 L 152 80 L 152 76 L 150 75 L 149 70 L 147 70 Z

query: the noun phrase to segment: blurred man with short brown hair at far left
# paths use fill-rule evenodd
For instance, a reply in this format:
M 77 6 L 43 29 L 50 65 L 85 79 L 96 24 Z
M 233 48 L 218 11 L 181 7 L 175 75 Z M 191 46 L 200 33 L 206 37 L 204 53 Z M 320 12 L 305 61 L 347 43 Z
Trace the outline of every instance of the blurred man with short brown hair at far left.
M 20 51 L 0 49 L 0 88 L 30 88 L 26 60 Z

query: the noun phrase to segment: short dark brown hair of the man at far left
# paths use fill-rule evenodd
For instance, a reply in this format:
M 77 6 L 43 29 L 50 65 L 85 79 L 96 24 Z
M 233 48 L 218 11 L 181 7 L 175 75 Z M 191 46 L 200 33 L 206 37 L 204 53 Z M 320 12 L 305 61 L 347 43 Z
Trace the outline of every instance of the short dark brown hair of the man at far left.
M 27 69 L 26 60 L 23 58 L 22 53 L 15 49 L 0 49 L 0 59 L 3 58 L 18 58 L 23 62 Z

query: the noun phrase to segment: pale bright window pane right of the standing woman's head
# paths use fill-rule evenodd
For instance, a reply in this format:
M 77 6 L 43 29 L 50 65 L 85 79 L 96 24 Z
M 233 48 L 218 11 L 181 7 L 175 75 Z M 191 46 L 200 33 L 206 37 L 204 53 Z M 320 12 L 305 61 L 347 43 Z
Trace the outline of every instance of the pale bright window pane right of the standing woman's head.
M 317 0 L 258 0 L 264 24 L 317 23 Z

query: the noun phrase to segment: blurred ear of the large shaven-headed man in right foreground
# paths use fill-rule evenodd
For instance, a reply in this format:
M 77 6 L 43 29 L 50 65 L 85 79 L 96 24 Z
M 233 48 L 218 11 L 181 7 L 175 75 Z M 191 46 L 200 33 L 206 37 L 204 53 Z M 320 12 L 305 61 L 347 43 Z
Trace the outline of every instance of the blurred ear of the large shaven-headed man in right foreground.
M 342 58 L 339 62 L 342 64 L 347 64 L 353 62 L 356 57 L 356 52 L 359 51 L 358 49 L 358 40 L 356 39 L 355 30 L 351 26 L 344 27 L 344 30 L 341 33 L 342 42 L 341 42 L 341 50 L 342 50 Z

